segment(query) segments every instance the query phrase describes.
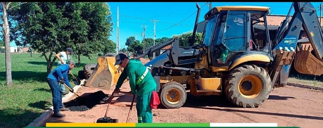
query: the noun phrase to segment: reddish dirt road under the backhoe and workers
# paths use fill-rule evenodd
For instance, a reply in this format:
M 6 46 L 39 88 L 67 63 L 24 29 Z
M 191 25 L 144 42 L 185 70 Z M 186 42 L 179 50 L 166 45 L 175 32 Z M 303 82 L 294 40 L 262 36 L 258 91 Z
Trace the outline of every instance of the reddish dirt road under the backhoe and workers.
M 102 90 L 111 94 L 110 90 Z M 130 91 L 129 83 L 121 86 L 121 91 Z M 81 87 L 78 94 L 92 93 L 100 89 Z M 75 96 L 72 97 L 74 99 Z M 116 95 L 112 103 L 130 104 L 132 97 Z M 64 118 L 49 118 L 47 123 L 95 123 L 104 116 L 107 104 L 98 104 L 83 112 L 61 112 Z M 111 105 L 108 116 L 126 122 L 130 107 Z M 162 105 L 152 110 L 154 123 L 278 123 L 278 126 L 299 126 L 302 128 L 323 127 L 323 92 L 294 86 L 276 88 L 269 99 L 258 108 L 237 108 L 223 96 L 187 96 L 184 106 L 165 109 Z M 137 122 L 134 107 L 130 122 Z

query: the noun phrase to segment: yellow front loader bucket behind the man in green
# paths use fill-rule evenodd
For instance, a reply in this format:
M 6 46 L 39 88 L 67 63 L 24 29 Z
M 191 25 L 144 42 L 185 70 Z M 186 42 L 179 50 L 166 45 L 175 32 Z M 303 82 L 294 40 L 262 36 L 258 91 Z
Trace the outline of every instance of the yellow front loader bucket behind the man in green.
M 114 56 L 99 56 L 97 62 L 97 66 L 84 86 L 99 89 L 110 89 L 111 86 L 117 84 L 122 70 L 118 71 L 119 66 L 114 66 L 116 63 Z

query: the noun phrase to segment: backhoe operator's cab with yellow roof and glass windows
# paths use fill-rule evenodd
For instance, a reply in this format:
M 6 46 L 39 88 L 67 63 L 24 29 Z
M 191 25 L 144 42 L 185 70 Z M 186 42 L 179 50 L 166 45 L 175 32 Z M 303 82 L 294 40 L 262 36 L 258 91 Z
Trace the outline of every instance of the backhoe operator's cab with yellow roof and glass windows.
M 219 6 L 204 15 L 202 38 L 210 51 L 207 55 L 211 57 L 207 58 L 211 69 L 230 67 L 235 60 L 250 54 L 273 60 L 266 24 L 269 10 L 260 6 Z

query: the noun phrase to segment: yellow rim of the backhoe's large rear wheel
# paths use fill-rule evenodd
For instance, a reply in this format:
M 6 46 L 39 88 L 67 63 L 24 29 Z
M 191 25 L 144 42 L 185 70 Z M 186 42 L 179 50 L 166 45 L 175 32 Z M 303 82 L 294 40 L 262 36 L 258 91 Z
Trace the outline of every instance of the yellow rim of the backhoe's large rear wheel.
M 260 94 L 262 84 L 257 76 L 246 75 L 240 80 L 238 90 L 243 97 L 252 99 Z

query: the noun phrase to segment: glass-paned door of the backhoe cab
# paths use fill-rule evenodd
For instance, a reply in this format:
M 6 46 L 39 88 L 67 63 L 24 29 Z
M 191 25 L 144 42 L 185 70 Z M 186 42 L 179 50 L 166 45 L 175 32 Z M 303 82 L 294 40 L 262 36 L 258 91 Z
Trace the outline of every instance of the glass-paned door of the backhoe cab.
M 247 50 L 247 12 L 227 11 L 220 14 L 212 47 L 212 65 L 215 67 L 228 66 Z

